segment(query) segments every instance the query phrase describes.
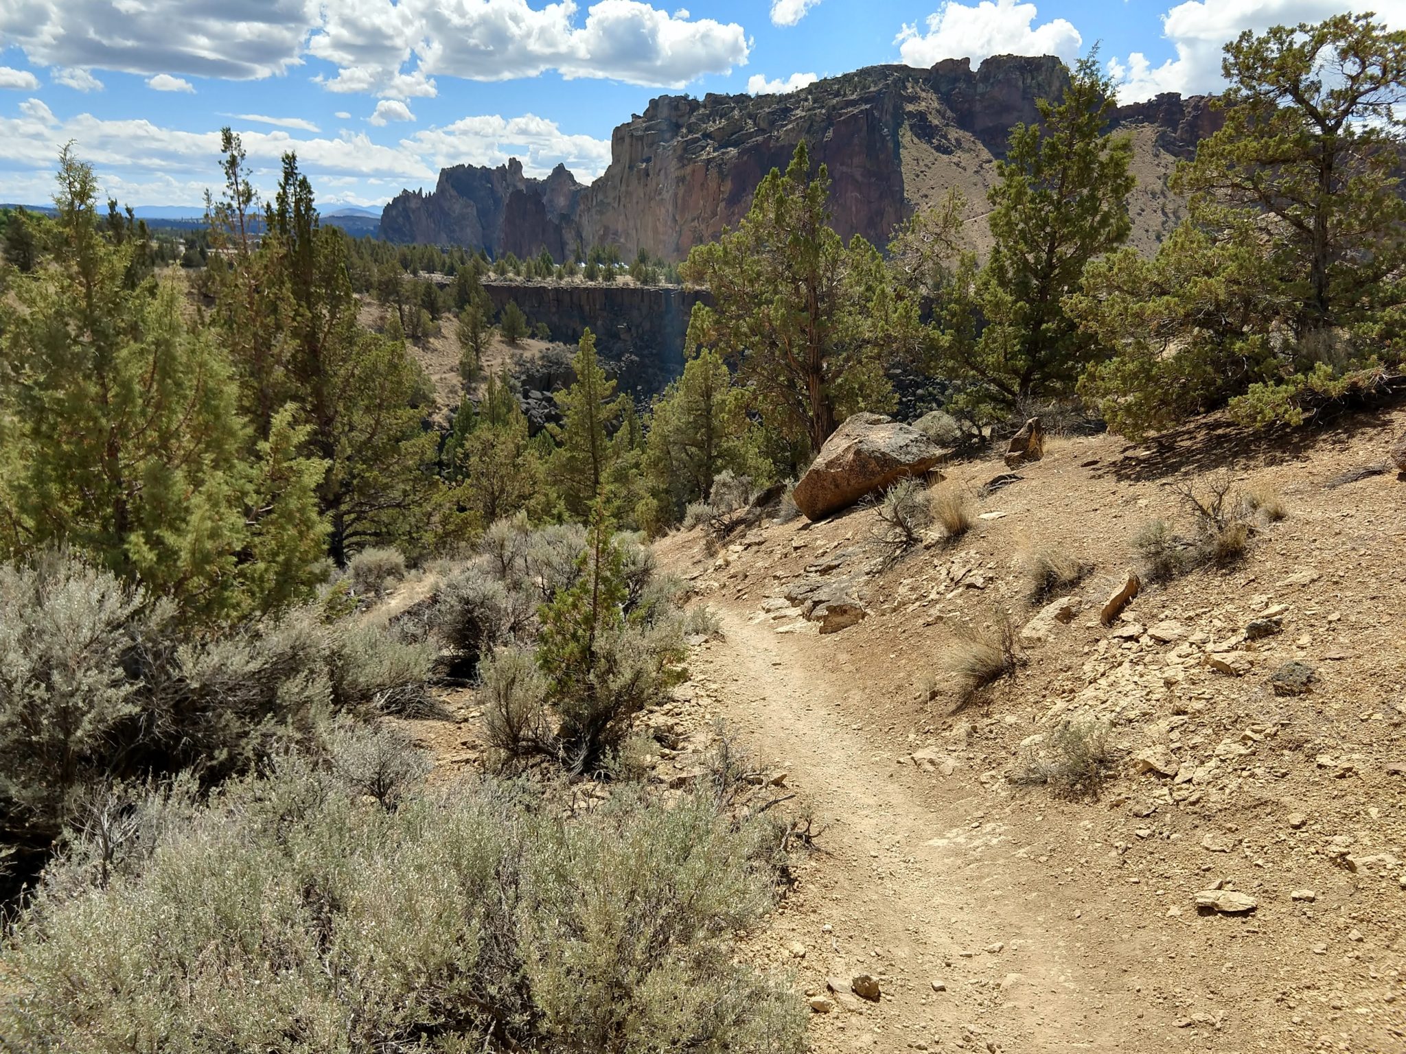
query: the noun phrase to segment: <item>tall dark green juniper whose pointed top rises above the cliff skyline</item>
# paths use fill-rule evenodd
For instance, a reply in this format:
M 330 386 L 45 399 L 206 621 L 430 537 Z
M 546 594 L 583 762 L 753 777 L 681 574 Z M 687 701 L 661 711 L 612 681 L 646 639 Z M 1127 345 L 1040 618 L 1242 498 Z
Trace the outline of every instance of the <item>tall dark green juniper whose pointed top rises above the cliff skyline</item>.
M 1112 83 L 1094 56 L 1070 74 L 1059 105 L 1011 131 L 991 188 L 991 259 L 977 281 L 984 318 L 977 340 L 955 340 L 946 372 L 967 385 L 967 406 L 1008 413 L 1028 399 L 1073 392 L 1099 344 L 1067 315 L 1084 267 L 1126 240 L 1132 143 L 1108 134 Z

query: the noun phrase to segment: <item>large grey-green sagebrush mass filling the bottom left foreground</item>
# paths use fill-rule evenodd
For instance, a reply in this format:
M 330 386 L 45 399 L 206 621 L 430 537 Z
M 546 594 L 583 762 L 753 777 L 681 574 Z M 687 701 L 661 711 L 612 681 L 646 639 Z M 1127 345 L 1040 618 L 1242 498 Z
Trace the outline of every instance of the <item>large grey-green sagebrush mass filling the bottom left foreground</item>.
M 325 769 L 284 756 L 208 805 L 142 802 L 105 887 L 73 860 L 0 960 L 18 996 L 0 1008 L 7 1040 L 803 1050 L 799 999 L 735 961 L 772 901 L 762 824 L 626 790 L 579 819 L 492 783 L 432 794 L 395 743 L 347 739 Z

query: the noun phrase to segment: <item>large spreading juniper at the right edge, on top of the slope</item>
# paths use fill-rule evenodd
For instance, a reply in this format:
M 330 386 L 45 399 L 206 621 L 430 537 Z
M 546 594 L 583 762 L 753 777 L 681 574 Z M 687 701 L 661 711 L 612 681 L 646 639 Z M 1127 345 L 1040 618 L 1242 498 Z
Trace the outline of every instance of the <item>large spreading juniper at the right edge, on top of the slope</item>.
M 1223 67 L 1225 125 L 1174 177 L 1188 226 L 1154 261 L 1091 267 L 1071 302 L 1115 350 L 1083 392 L 1122 434 L 1223 405 L 1299 424 L 1403 361 L 1406 34 L 1347 14 L 1247 31 Z

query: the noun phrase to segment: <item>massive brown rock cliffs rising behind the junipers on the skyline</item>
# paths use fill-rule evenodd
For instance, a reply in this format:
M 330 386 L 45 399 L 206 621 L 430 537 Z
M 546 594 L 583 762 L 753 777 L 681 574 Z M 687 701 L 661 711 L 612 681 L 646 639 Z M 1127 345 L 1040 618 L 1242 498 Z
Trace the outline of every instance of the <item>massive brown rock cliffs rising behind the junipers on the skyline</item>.
M 575 246 L 616 245 L 678 260 L 735 225 L 752 191 L 806 141 L 834 180 L 835 228 L 883 245 L 894 225 L 949 187 L 969 200 L 972 242 L 986 242 L 986 190 L 1014 124 L 1059 97 L 1059 59 L 995 56 L 928 70 L 870 66 L 786 96 L 661 96 L 614 129 L 605 174 L 582 186 L 558 166 L 527 178 L 515 159 L 446 169 L 430 194 L 404 191 L 385 207 L 384 235 L 558 259 Z M 1178 157 L 1212 132 L 1205 97 L 1159 96 L 1122 107 L 1116 124 L 1136 149 L 1133 242 L 1156 243 L 1180 207 L 1166 186 Z

